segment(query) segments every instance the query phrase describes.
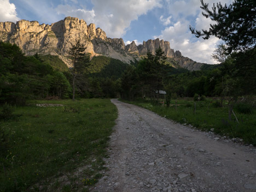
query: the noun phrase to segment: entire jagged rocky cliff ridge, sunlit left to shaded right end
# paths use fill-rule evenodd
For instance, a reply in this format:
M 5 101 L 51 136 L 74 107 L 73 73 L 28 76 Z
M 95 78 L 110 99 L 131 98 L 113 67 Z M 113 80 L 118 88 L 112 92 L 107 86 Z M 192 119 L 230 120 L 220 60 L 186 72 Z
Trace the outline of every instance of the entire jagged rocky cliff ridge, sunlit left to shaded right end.
M 68 67 L 71 67 L 68 51 L 76 39 L 85 44 L 85 51 L 91 56 L 105 55 L 130 63 L 135 59 L 139 60 L 148 51 L 154 54 L 155 49 L 160 46 L 167 57 L 173 58 L 183 68 L 193 71 L 203 65 L 183 57 L 179 51 L 174 52 L 170 43 L 164 40 L 150 39 L 142 45 L 137 46 L 132 42 L 125 46 L 123 39 L 108 38 L 101 28 L 96 28 L 95 24 L 87 25 L 83 19 L 67 17 L 51 25 L 39 25 L 37 21 L 26 20 L 16 24 L 0 22 L 0 40 L 17 44 L 26 55 L 58 55 Z

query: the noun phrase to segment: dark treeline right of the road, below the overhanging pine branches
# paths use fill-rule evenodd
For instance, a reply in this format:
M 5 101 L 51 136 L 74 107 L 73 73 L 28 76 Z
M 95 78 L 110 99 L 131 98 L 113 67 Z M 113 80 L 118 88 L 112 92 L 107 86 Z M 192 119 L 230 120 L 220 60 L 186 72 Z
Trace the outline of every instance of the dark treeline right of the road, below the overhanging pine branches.
M 137 97 L 159 97 L 158 91 L 166 91 L 166 97 L 232 96 L 256 94 L 256 55 L 254 50 L 231 54 L 218 68 L 193 72 L 180 71 L 166 65 L 159 48 L 139 61 L 137 67 L 129 66 L 121 77 L 122 96 L 132 100 Z

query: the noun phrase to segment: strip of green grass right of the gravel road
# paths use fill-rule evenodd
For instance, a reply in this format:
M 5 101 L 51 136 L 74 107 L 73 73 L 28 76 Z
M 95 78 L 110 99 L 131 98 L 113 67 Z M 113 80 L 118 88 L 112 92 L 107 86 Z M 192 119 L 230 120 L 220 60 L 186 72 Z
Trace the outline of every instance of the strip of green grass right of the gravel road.
M 176 105 L 177 101 L 177 105 Z M 127 102 L 127 101 L 125 101 Z M 196 113 L 194 113 L 193 98 L 172 100 L 171 106 L 166 107 L 159 104 L 153 104 L 146 100 L 137 100 L 129 102 L 153 112 L 172 119 L 182 124 L 190 124 L 198 129 L 210 131 L 214 129 L 219 135 L 242 138 L 247 144 L 256 146 L 256 110 L 250 107 L 251 113 L 241 113 L 241 110 L 234 108 L 238 119 L 232 115 L 232 120 L 228 120 L 228 102 L 224 102 L 224 107 L 214 107 L 214 101 L 208 98 L 206 101 L 196 102 Z

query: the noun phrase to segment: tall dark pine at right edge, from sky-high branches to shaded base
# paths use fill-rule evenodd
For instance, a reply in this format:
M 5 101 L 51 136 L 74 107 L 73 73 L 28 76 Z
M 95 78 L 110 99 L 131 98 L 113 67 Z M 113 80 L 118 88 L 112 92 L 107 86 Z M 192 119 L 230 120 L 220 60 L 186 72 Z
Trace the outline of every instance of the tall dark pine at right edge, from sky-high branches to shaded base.
M 213 54 L 223 62 L 225 90 L 234 97 L 256 90 L 256 1 L 235 0 L 230 5 L 213 4 L 212 10 L 201 0 L 202 15 L 215 21 L 207 30 L 190 30 L 196 37 L 216 36 L 224 40 Z M 224 84 L 223 83 L 223 84 Z M 223 86 L 224 90 L 224 86 Z

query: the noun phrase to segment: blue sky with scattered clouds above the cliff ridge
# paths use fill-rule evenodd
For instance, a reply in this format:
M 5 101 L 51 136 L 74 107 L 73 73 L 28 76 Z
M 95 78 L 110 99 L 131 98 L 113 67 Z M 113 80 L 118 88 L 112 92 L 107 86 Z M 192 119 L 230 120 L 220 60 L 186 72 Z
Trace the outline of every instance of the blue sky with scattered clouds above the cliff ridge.
M 230 4 L 232 0 L 205 0 Z M 213 24 L 202 16 L 200 0 L 0 0 L 0 22 L 21 19 L 52 24 L 66 16 L 94 23 L 106 32 L 107 37 L 123 38 L 125 44 L 132 40 L 164 39 L 171 49 L 197 62 L 217 63 L 211 55 L 222 41 L 216 37 L 208 40 L 196 38 L 189 26 L 198 30 Z

